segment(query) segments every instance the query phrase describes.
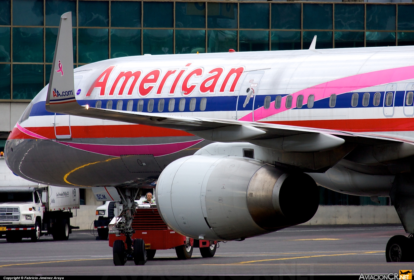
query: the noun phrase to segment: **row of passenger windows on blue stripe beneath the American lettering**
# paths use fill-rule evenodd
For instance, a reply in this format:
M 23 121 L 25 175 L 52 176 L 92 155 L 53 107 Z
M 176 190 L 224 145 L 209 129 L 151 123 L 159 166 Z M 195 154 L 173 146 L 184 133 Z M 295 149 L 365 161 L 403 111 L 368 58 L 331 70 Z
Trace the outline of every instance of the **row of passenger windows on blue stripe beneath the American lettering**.
M 197 100 L 195 98 L 191 98 L 190 99 L 190 104 L 189 104 L 189 108 L 190 111 L 194 111 L 195 110 L 195 106 L 197 105 Z M 112 100 L 108 100 L 108 102 L 106 102 L 106 109 L 112 109 Z M 169 112 L 173 112 L 174 108 L 175 108 L 175 104 L 176 104 L 176 100 L 175 98 L 171 98 L 168 101 L 168 111 Z M 132 106 L 134 105 L 134 101 L 133 100 L 128 100 L 127 103 L 127 111 L 132 111 Z M 163 112 L 164 111 L 164 105 L 165 105 L 165 101 L 164 99 L 159 99 L 158 100 L 158 112 Z M 200 101 L 200 111 L 204 111 L 206 109 L 206 105 L 207 105 L 207 98 L 201 98 Z M 98 100 L 96 101 L 95 104 L 95 108 L 101 108 L 102 106 L 102 101 Z M 122 106 L 123 106 L 123 101 L 122 100 L 118 100 L 118 102 L 116 103 L 116 110 L 121 111 L 122 110 Z M 138 101 L 137 104 L 137 112 L 142 112 L 144 110 L 144 100 L 140 99 Z M 154 110 L 154 99 L 149 99 L 148 100 L 148 104 L 147 104 L 147 112 L 152 112 Z M 179 103 L 178 103 L 178 110 L 180 112 L 183 112 L 185 110 L 185 98 L 181 98 Z

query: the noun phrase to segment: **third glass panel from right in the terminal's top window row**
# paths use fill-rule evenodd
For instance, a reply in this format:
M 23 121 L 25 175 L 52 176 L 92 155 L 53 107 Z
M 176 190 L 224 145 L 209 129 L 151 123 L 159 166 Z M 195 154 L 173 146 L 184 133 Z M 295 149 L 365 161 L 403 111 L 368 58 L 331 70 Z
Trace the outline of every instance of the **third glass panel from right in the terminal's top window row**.
M 364 5 L 335 4 L 335 29 L 362 29 Z

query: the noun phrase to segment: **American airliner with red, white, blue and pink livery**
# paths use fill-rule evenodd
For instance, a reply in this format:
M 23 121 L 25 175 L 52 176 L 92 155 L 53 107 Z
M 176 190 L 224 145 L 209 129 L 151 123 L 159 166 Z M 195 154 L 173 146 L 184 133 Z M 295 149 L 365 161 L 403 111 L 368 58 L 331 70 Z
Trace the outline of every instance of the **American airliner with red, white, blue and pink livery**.
M 49 84 L 5 146 L 42 184 L 120 200 L 133 244 L 134 199 L 156 184 L 182 235 L 243 240 L 304 223 L 318 185 L 390 197 L 414 233 L 414 47 L 143 55 L 73 69 L 62 15 Z M 102 198 L 102 196 L 99 196 Z M 105 199 L 105 198 L 103 198 Z M 412 261 L 392 237 L 387 261 Z

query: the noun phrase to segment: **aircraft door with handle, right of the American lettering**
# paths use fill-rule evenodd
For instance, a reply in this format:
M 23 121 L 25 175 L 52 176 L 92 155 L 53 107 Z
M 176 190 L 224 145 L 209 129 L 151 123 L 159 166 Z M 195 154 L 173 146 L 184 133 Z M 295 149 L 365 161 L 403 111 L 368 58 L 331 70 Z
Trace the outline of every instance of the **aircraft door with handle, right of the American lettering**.
M 265 71 L 252 71 L 247 72 L 243 83 L 238 91 L 238 104 L 237 104 L 237 117 L 241 118 L 244 115 L 252 112 L 254 115 L 254 101 L 255 94 L 257 94 L 260 80 L 262 79 Z M 254 120 L 254 117 L 253 117 Z

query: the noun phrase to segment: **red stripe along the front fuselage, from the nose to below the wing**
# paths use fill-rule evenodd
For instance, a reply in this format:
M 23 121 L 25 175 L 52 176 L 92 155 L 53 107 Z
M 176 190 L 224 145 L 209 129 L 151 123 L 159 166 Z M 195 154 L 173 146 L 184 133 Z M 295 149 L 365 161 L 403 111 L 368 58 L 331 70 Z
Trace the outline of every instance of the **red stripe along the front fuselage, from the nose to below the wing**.
M 26 129 L 44 136 L 55 139 L 54 127 L 26 127 Z M 136 137 L 169 137 L 169 136 L 193 136 L 188 132 L 162 127 L 151 127 L 142 124 L 126 125 L 91 125 L 71 126 L 72 138 L 136 138 Z M 36 139 L 24 134 L 16 127 L 13 128 L 8 139 Z

